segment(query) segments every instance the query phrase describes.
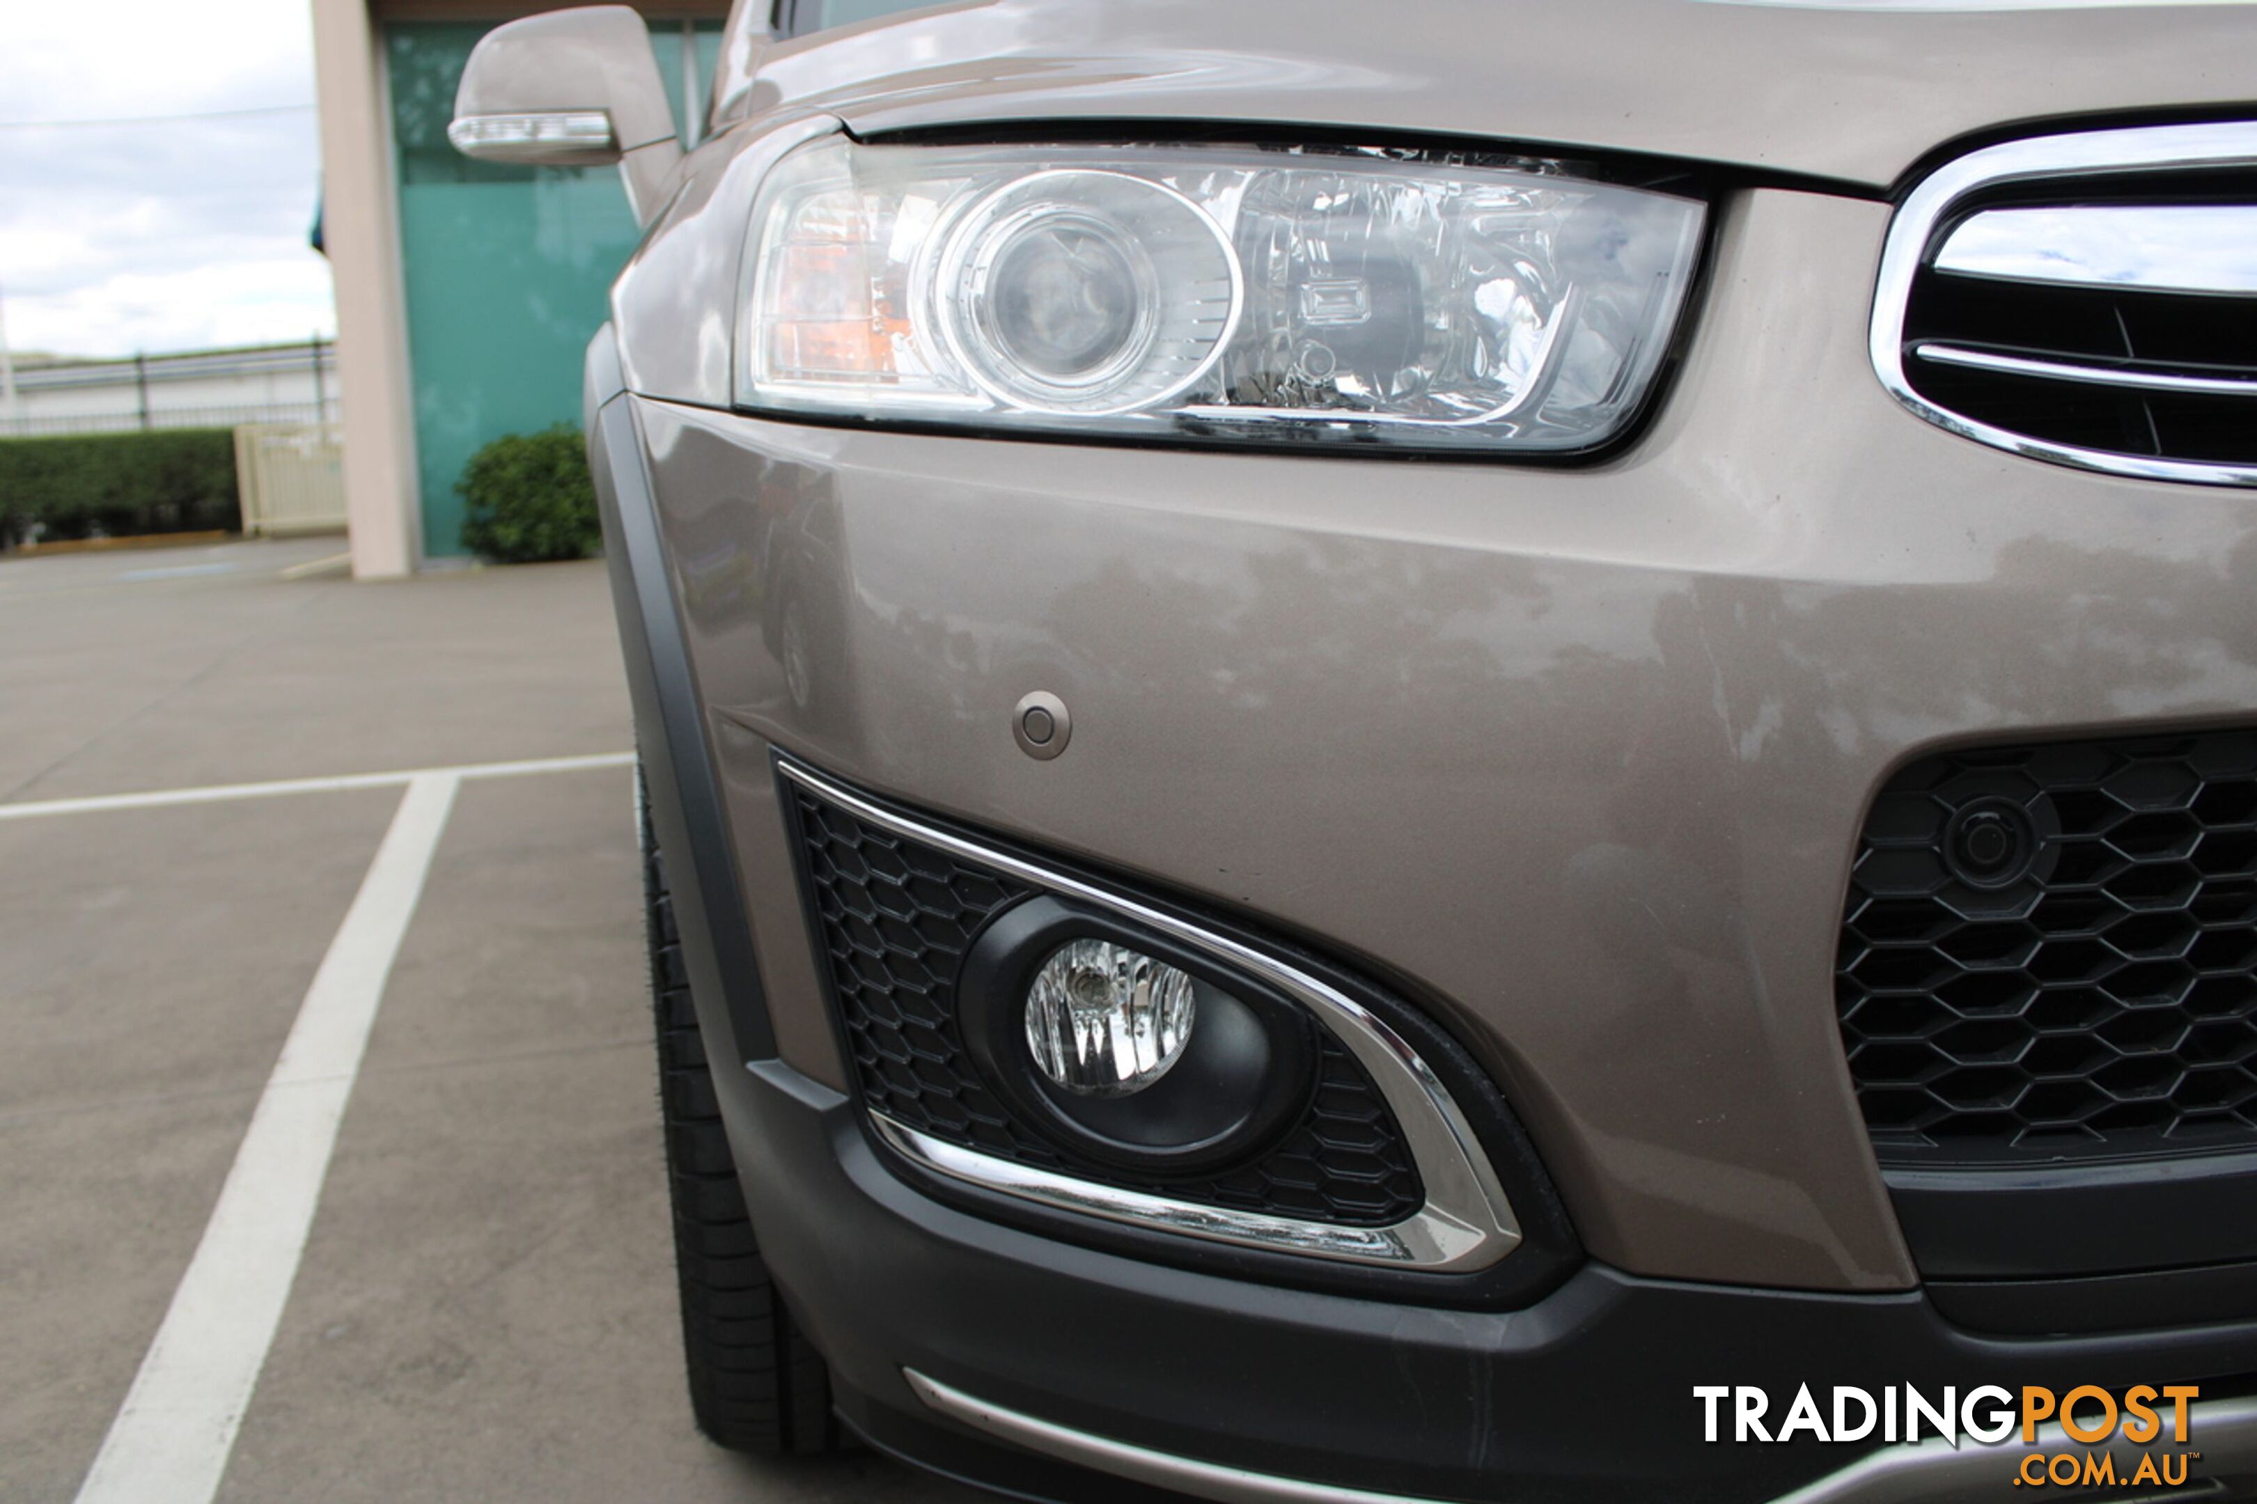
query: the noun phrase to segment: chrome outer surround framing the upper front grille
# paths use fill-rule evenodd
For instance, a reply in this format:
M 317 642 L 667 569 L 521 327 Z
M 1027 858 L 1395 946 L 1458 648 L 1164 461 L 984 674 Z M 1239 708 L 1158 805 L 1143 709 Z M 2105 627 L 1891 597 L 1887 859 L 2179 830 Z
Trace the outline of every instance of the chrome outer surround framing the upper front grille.
M 1903 208 L 1896 210 L 1887 246 L 1880 253 L 1869 336 L 1873 373 L 1880 377 L 1880 384 L 1927 422 L 1995 449 L 2146 481 L 2257 486 L 2257 465 L 2205 465 L 2198 461 L 2110 454 L 1997 429 L 1937 406 L 1916 393 L 1905 375 L 1905 307 L 1912 296 L 1912 282 L 1930 255 L 1937 228 L 1970 194 L 2000 187 L 2002 183 L 2076 181 L 2201 167 L 2257 167 L 2257 122 L 2036 135 L 1973 151 L 1932 172 L 1912 190 Z M 2252 420 L 2257 420 L 2257 413 L 2252 413 Z

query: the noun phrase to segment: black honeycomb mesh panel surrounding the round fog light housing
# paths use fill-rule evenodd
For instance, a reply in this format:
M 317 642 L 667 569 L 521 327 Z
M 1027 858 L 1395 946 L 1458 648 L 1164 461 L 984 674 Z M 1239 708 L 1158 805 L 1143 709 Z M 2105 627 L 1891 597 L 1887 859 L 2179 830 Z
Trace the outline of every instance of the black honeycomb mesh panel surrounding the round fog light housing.
M 869 1109 L 1020 1165 L 1286 1217 L 1386 1226 L 1424 1204 L 1411 1149 L 1379 1088 L 1318 1030 L 1309 1107 L 1259 1158 L 1183 1179 L 1124 1174 L 1029 1127 L 973 1066 L 955 978 L 980 928 L 1029 897 L 1000 874 L 858 820 L 785 784 L 855 1084 Z

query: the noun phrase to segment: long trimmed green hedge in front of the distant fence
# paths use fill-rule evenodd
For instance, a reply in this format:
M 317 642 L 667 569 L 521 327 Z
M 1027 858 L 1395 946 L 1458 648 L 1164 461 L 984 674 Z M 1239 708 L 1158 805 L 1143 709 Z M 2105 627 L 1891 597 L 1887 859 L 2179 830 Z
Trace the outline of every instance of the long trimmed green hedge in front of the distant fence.
M 0 542 L 239 531 L 232 429 L 0 438 Z

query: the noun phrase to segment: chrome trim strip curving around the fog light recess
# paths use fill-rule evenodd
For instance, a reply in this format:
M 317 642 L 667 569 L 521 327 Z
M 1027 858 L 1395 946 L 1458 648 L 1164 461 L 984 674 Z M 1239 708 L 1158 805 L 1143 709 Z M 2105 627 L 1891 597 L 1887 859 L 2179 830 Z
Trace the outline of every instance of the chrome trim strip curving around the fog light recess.
M 1273 1213 L 1194 1206 L 1016 1165 L 941 1143 L 892 1118 L 871 1113 L 871 1127 L 880 1140 L 903 1158 L 950 1179 L 1025 1201 L 1147 1226 L 1160 1233 L 1277 1253 L 1384 1265 L 1390 1269 L 1463 1274 L 1485 1269 L 1519 1247 L 1521 1226 L 1512 1213 L 1512 1201 L 1496 1181 L 1487 1154 L 1481 1152 L 1481 1143 L 1474 1138 L 1474 1129 L 1456 1100 L 1451 1100 L 1449 1088 L 1442 1086 L 1420 1052 L 1411 1048 L 1411 1041 L 1347 994 L 1264 951 L 1244 946 L 1237 939 L 1217 935 L 1135 899 L 871 804 L 862 795 L 833 784 L 788 757 L 779 757 L 776 768 L 783 777 L 846 808 L 858 820 L 1160 930 L 1169 939 L 1212 955 L 1223 967 L 1253 973 L 1307 1007 L 1370 1073 L 1379 1093 L 1395 1111 L 1404 1143 L 1408 1143 L 1411 1158 L 1417 1163 L 1420 1179 L 1426 1186 L 1426 1204 L 1411 1217 L 1384 1228 L 1296 1222 Z

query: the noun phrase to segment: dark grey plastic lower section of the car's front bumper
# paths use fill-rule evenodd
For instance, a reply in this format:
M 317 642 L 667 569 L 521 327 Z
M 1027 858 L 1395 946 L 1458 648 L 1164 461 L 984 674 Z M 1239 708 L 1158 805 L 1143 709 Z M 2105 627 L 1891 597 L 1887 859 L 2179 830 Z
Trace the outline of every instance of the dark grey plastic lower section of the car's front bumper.
M 781 1061 L 727 1077 L 724 1118 L 761 1249 L 831 1362 L 842 1414 L 880 1448 L 1027 1497 L 1171 1495 L 980 1445 L 919 1396 L 912 1373 L 1088 1439 L 1291 1484 L 1228 1495 L 1203 1486 L 1198 1468 L 1171 1477 L 1201 1497 L 1350 1504 L 1329 1488 L 1363 1490 L 1372 1504 L 1745 1504 L 1844 1472 L 1860 1448 L 1704 1443 L 1695 1384 L 1756 1384 L 1779 1407 L 1801 1384 L 1817 1396 L 1907 1382 L 1930 1396 L 1973 1384 L 2122 1389 L 2243 1373 L 2257 1353 L 2257 1323 L 2006 1341 L 1952 1328 L 1918 1292 L 1767 1292 L 1598 1262 L 1512 1312 L 1277 1289 L 941 1206 L 878 1158 L 846 1098 Z M 2198 1472 L 2257 1481 L 2248 1407 L 2216 1402 L 2232 1393 L 2203 1384 Z M 1052 1457 L 1122 1470 L 1117 1457 Z M 1966 1495 L 1939 1470 L 1909 1486 L 1903 1472 L 1846 1477 L 1812 1499 L 1982 1499 L 2011 1488 L 2013 1448 L 1966 1457 L 1986 1463 Z

